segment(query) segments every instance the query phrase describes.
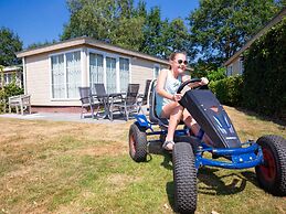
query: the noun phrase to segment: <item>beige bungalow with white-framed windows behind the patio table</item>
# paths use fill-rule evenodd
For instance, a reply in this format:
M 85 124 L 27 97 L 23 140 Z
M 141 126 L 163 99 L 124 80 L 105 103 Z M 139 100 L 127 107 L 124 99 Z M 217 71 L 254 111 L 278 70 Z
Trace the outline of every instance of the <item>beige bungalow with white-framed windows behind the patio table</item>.
M 156 78 L 168 61 L 91 38 L 76 38 L 17 53 L 23 62 L 24 93 L 33 110 L 78 111 L 80 86 L 104 83 L 108 93 L 126 92 L 129 83 Z

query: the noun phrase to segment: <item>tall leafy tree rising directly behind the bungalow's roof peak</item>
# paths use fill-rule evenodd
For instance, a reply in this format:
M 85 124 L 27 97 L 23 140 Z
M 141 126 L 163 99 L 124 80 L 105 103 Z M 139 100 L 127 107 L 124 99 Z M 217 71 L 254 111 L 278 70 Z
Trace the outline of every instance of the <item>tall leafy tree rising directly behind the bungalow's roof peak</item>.
M 133 4 L 133 0 L 68 0 L 71 20 L 61 39 L 86 35 L 137 51 L 144 19 Z

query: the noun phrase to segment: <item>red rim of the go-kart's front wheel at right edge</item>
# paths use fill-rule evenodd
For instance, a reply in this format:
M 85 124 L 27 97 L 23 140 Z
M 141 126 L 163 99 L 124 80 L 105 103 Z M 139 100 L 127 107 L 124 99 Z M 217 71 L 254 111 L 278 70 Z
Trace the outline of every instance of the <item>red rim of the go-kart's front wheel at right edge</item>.
M 265 163 L 261 165 L 261 171 L 266 181 L 274 181 L 276 176 L 276 165 L 274 156 L 268 149 L 263 148 L 263 158 Z

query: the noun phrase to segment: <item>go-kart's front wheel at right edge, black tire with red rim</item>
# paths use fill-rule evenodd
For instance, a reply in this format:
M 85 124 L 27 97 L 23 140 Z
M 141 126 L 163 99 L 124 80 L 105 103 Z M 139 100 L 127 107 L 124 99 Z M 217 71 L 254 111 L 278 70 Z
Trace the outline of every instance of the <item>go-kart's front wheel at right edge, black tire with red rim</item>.
M 286 140 L 272 135 L 261 137 L 257 143 L 265 160 L 255 167 L 259 185 L 273 195 L 286 196 Z

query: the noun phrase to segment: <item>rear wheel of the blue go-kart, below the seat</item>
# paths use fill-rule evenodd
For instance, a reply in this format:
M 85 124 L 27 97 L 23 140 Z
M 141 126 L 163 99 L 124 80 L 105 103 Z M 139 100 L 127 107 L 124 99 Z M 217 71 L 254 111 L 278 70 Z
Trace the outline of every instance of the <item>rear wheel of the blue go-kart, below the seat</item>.
M 144 162 L 147 159 L 146 129 L 138 122 L 134 122 L 129 129 L 129 154 L 136 162 Z

